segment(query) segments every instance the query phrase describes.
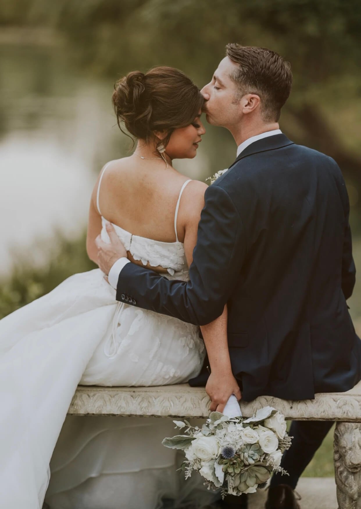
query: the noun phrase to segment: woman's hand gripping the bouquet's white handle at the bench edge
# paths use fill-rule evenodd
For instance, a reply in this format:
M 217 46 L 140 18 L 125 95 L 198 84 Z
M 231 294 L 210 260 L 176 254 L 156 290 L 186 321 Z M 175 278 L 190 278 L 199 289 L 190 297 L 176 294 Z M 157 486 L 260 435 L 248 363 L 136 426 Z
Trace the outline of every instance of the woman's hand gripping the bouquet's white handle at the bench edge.
M 212 371 L 205 392 L 211 399 L 211 412 L 222 412 L 231 394 L 235 394 L 238 401 L 241 400 L 241 389 L 236 378 L 231 372 L 215 372 Z

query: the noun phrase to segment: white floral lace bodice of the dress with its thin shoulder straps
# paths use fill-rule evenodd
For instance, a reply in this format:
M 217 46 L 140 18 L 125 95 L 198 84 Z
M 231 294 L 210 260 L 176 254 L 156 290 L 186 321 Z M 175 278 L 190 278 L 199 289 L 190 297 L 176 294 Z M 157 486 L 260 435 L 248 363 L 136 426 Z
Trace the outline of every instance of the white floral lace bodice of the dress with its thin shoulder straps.
M 111 161 L 110 161 L 111 162 Z M 110 163 L 107 163 L 104 167 L 104 170 L 99 179 L 99 185 L 97 190 L 97 209 L 99 214 L 101 215 L 99 208 L 99 189 L 101 179 L 106 171 Z M 179 242 L 176 223 L 177 223 L 177 215 L 179 209 L 179 203 L 181 201 L 181 196 L 184 188 L 190 182 L 187 180 L 179 192 L 178 201 L 174 214 L 174 230 L 175 230 L 175 242 L 161 242 L 159 240 L 153 240 L 146 237 L 140 237 L 139 235 L 133 235 L 130 232 L 127 232 L 123 228 L 119 227 L 117 224 L 113 224 L 114 229 L 123 243 L 125 249 L 129 251 L 134 260 L 141 261 L 145 266 L 149 263 L 151 267 L 163 267 L 167 269 L 168 278 L 169 276 L 174 276 L 176 279 L 188 280 L 188 265 L 186 260 L 186 255 L 184 251 L 183 242 Z M 110 242 L 109 235 L 106 230 L 106 222 L 107 220 L 101 216 L 101 239 L 104 242 Z

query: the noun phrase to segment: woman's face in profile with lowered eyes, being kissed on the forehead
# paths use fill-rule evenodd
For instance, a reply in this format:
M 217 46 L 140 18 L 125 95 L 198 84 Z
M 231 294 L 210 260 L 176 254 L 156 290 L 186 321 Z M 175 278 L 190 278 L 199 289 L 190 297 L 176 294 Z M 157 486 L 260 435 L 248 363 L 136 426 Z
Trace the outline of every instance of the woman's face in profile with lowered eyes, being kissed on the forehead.
M 166 147 L 166 154 L 171 159 L 192 159 L 197 154 L 198 144 L 201 136 L 205 133 L 204 126 L 200 120 L 201 112 L 187 127 L 175 129 Z

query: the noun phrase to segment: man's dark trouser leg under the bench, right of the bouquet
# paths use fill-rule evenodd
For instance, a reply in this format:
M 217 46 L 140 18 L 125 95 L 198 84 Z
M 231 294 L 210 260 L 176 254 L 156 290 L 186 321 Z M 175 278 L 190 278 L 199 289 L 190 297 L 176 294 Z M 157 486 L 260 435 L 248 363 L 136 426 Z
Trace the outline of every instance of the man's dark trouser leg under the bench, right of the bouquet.
M 274 474 L 271 486 L 287 484 L 295 489 L 302 472 L 314 457 L 323 439 L 326 437 L 332 421 L 294 420 L 289 431 L 292 445 L 283 454 L 281 467 L 290 475 Z

